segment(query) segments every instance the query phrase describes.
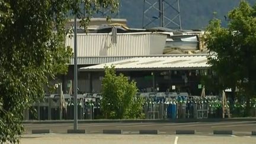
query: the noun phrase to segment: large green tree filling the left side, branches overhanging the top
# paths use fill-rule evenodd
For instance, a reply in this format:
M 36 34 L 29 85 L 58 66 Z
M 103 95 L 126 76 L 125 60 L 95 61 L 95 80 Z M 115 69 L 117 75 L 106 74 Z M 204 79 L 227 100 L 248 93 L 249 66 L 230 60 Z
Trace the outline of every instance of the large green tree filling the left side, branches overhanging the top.
M 0 1 L 0 143 L 19 142 L 23 111 L 44 95 L 49 79 L 67 71 L 70 48 L 65 47 L 68 13 L 87 26 L 100 8 L 117 8 L 117 0 Z

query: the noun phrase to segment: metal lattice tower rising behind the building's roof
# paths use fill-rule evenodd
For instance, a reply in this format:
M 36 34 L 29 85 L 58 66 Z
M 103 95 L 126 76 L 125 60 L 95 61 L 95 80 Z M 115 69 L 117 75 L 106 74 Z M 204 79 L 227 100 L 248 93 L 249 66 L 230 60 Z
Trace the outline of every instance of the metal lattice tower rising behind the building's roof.
M 179 0 L 144 0 L 142 27 L 167 27 L 181 30 Z

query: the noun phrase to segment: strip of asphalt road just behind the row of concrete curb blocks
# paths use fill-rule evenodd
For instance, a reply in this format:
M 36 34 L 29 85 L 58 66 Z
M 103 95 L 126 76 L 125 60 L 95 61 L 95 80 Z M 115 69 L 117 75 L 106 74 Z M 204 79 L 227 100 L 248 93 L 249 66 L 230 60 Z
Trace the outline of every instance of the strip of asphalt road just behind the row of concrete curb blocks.
M 24 134 L 33 129 L 50 129 L 51 133 L 67 133 L 73 123 L 24 124 Z M 213 135 L 213 130 L 233 130 L 235 136 L 251 136 L 256 121 L 221 121 L 193 123 L 79 123 L 78 129 L 89 134 L 103 133 L 103 129 L 121 129 L 123 134 L 138 134 L 139 130 L 159 130 L 160 135 L 175 135 L 176 130 L 196 130 L 196 135 Z M 256 141 L 255 141 L 256 143 Z

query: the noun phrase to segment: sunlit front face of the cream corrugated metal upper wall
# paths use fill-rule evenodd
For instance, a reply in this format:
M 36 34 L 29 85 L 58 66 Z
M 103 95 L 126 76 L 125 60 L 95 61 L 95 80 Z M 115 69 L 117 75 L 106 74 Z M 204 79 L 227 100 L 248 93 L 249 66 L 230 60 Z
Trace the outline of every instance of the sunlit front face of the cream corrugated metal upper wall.
M 149 55 L 151 35 L 118 34 L 117 44 L 112 44 L 111 34 L 78 34 L 78 57 Z M 66 38 L 66 46 L 73 47 L 73 37 Z

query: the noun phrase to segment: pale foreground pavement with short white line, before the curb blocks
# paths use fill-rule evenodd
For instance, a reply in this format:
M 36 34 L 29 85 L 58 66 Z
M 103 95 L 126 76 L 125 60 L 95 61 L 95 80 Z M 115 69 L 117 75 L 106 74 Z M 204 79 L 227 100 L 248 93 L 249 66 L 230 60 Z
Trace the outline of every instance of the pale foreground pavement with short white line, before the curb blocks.
M 100 134 L 47 134 L 47 135 L 24 135 L 21 144 L 69 144 L 69 143 L 104 143 L 104 144 L 255 144 L 254 136 L 198 136 L 198 135 L 100 135 Z

